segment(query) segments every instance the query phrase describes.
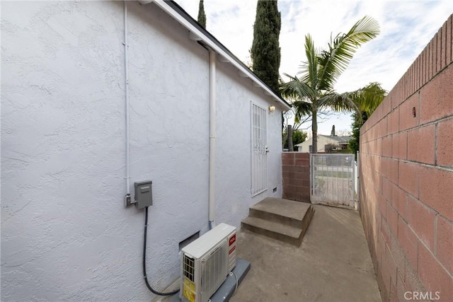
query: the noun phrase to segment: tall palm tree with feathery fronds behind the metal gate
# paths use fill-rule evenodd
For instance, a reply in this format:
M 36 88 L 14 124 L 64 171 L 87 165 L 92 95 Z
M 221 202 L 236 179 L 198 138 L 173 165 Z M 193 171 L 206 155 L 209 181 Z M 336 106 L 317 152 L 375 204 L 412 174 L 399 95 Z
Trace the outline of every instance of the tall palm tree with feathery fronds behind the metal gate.
M 311 132 L 314 153 L 318 151 L 319 110 L 330 108 L 336 111 L 359 111 L 350 93 L 337 93 L 334 85 L 345 71 L 355 51 L 365 42 L 379 35 L 379 23 L 365 16 L 355 23 L 345 34 L 338 34 L 328 43 L 327 50 L 316 50 L 310 35 L 305 36 L 307 61 L 300 66 L 297 76 L 288 76 L 290 81 L 282 83 L 282 96 L 292 99 L 296 108 L 296 122 L 304 115 L 311 115 Z

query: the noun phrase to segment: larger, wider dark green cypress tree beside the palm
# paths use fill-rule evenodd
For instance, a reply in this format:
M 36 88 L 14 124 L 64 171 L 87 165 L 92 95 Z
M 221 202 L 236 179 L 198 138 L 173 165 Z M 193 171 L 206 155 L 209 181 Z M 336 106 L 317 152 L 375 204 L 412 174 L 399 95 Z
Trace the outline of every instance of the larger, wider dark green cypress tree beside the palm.
M 252 69 L 270 88 L 279 93 L 281 16 L 277 0 L 258 0 L 250 50 Z

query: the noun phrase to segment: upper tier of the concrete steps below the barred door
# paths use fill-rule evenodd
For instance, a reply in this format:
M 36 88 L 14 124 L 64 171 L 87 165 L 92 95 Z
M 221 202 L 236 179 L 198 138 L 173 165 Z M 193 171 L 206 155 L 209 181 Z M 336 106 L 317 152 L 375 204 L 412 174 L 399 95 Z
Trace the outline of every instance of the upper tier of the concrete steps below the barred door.
M 307 211 L 313 209 L 311 204 L 294 202 L 289 199 L 268 197 L 249 209 L 249 216 L 282 223 L 294 228 L 302 228 Z

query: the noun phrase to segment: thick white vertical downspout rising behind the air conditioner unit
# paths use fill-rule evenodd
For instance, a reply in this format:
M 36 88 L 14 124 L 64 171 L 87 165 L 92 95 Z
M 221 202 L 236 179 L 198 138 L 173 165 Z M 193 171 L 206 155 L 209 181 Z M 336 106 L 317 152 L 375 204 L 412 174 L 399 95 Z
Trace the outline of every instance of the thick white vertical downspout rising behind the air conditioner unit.
M 213 50 L 210 52 L 210 228 L 215 226 L 215 58 Z

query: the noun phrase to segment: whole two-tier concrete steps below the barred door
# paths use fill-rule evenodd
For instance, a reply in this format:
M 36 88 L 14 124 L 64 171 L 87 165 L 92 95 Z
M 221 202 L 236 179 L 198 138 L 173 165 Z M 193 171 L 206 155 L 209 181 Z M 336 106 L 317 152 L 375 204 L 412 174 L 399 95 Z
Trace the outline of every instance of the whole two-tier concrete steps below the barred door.
M 313 217 L 311 204 L 268 197 L 249 210 L 242 228 L 299 246 Z

